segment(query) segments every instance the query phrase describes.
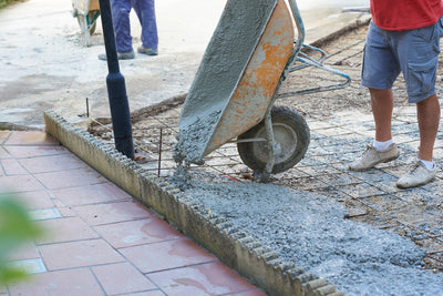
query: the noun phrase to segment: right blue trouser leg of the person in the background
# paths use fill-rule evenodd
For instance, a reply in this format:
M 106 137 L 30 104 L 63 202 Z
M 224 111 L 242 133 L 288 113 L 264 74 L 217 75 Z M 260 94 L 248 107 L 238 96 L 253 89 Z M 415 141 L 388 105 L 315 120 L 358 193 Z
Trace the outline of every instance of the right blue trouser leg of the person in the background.
M 154 0 L 135 0 L 134 10 L 137 13 L 140 23 L 142 24 L 143 48 L 156 51 L 158 47 L 158 32 L 155 19 Z

